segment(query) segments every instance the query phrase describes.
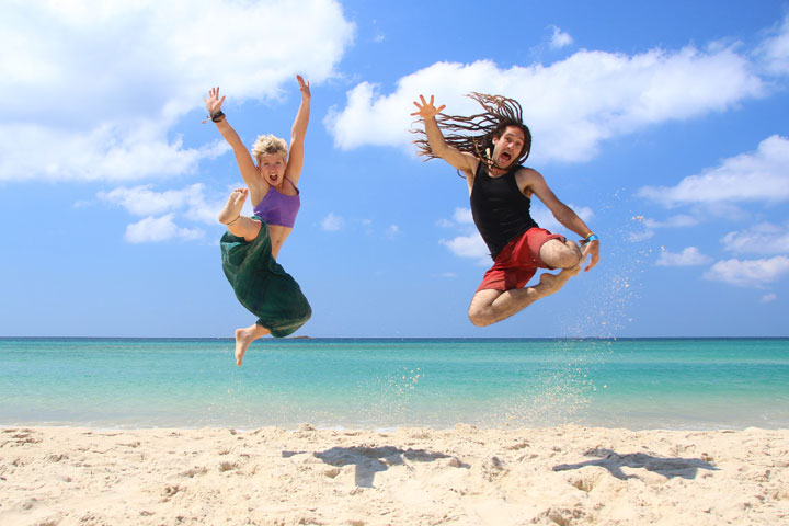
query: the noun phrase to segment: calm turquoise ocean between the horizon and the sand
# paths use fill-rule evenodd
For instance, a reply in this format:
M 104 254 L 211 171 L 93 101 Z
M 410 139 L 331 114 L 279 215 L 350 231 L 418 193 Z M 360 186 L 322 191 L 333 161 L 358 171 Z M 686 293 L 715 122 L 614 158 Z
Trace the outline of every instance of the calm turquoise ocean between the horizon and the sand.
M 789 339 L 0 339 L 0 426 L 789 427 Z

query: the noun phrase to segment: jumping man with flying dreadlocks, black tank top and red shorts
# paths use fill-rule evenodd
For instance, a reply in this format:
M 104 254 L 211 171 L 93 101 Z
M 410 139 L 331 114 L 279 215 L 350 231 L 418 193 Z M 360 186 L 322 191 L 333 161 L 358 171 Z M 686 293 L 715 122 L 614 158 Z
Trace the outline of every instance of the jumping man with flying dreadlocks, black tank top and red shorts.
M 468 316 L 478 327 L 511 317 L 564 286 L 581 270 L 599 261 L 599 240 L 583 220 L 560 202 L 542 175 L 521 163 L 531 148 L 531 134 L 523 124 L 521 105 L 499 95 L 471 93 L 484 113 L 464 116 L 441 114 L 420 95 L 414 102 L 424 123 L 415 141 L 420 155 L 441 158 L 462 173 L 468 184 L 474 225 L 490 249 L 493 266 L 471 299 Z M 439 127 L 441 125 L 441 127 Z M 442 128 L 448 132 L 445 137 Z M 553 217 L 583 238 L 583 252 L 574 241 L 539 228 L 529 214 L 536 195 Z M 561 268 L 544 273 L 539 283 L 526 287 L 537 268 Z

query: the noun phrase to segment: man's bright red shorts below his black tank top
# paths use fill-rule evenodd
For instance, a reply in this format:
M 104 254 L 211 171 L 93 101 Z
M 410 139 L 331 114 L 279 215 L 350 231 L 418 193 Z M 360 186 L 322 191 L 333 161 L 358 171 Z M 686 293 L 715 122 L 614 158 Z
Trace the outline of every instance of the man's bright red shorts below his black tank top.
M 485 272 L 482 284 L 477 288 L 477 291 L 485 289 L 512 290 L 513 288 L 525 287 L 537 272 L 537 268 L 550 268 L 550 266 L 542 263 L 539 249 L 542 243 L 551 239 L 567 241 L 564 236 L 550 233 L 545 228 L 537 227 L 529 228 L 510 241 L 496 255 L 493 266 Z

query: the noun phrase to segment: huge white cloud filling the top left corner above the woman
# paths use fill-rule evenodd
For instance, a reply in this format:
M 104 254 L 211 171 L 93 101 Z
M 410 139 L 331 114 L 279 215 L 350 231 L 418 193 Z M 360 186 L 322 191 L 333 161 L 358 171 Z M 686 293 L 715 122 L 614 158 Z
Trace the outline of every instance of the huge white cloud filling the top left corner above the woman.
M 171 137 L 208 88 L 298 93 L 295 73 L 334 76 L 353 33 L 334 0 L 4 2 L 0 181 L 187 173 L 224 151 Z

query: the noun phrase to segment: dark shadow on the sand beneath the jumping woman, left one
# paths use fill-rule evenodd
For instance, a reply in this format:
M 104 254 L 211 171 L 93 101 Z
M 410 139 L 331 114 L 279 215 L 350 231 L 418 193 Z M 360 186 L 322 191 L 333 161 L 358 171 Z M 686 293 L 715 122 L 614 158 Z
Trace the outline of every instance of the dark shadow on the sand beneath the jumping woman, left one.
M 282 455 L 287 458 L 300 453 L 307 451 L 283 451 Z M 411 462 L 432 462 L 442 458 L 450 458 L 456 460 L 456 462 L 453 464 L 454 467 L 467 469 L 471 467 L 468 464 L 459 461 L 457 457 L 453 457 L 451 455 L 430 453 L 424 449 L 401 449 L 393 446 L 332 447 L 324 451 L 316 451 L 312 455 L 330 466 L 343 467 L 355 465 L 355 483 L 358 488 L 373 488 L 373 481 L 377 472 L 386 471 L 389 469 L 389 466 L 404 465 L 407 460 Z

